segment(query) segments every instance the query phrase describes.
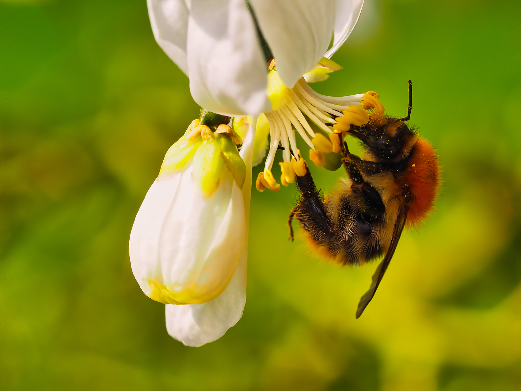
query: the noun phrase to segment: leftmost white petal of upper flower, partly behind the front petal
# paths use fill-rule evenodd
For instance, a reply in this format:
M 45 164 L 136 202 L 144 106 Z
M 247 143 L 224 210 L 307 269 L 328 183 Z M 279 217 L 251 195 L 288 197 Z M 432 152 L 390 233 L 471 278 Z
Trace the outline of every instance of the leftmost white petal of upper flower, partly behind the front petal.
M 187 35 L 190 0 L 146 0 L 146 4 L 157 43 L 188 75 Z

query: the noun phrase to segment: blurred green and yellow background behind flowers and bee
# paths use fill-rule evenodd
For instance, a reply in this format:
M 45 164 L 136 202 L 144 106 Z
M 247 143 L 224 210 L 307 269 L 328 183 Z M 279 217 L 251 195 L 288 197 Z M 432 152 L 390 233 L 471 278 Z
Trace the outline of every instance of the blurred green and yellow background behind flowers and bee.
M 367 0 L 344 69 L 314 88 L 375 90 L 403 116 L 413 80 L 411 122 L 443 165 L 436 212 L 355 320 L 376 265 L 288 242 L 295 189 L 254 190 L 244 316 L 188 348 L 128 258 L 199 110 L 146 2 L 0 0 L 0 389 L 521 389 L 519 20 L 516 1 Z M 326 190 L 343 175 L 313 167 Z

